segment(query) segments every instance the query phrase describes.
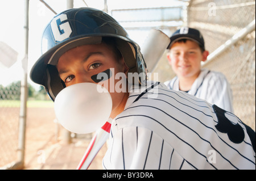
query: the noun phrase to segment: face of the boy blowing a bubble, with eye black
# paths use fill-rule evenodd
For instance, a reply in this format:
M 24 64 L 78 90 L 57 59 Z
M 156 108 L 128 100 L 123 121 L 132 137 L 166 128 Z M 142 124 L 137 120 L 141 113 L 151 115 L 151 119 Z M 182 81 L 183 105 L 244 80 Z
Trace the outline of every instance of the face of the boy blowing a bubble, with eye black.
M 60 78 L 65 82 L 66 86 L 82 82 L 97 83 L 95 79 L 92 79 L 92 76 L 94 75 L 95 77 L 98 73 L 102 73 L 110 68 L 114 70 L 110 77 L 114 81 L 114 85 L 119 81 L 119 79 L 114 78 L 115 74 L 120 72 L 126 73 L 128 70 L 123 58 L 117 60 L 117 56 L 112 48 L 102 43 L 72 48 L 59 58 L 57 64 Z M 113 111 L 120 106 L 127 91 L 119 93 L 115 90 L 114 92 L 110 91 L 110 86 L 113 86 L 113 83 L 110 84 L 109 80 L 105 81 L 107 83 L 102 84 L 101 82 L 101 85 L 108 89 L 112 96 Z

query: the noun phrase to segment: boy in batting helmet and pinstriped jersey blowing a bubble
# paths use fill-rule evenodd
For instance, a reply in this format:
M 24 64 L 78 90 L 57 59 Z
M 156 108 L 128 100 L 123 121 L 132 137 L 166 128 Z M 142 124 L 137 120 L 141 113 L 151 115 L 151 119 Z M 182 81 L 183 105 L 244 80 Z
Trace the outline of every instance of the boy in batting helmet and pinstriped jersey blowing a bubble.
M 138 44 L 105 12 L 61 12 L 42 47 L 30 77 L 52 100 L 76 83 L 114 82 L 114 91 L 104 83 L 113 101 L 104 169 L 255 169 L 255 132 L 216 105 L 147 82 Z M 97 79 L 102 72 L 108 77 Z

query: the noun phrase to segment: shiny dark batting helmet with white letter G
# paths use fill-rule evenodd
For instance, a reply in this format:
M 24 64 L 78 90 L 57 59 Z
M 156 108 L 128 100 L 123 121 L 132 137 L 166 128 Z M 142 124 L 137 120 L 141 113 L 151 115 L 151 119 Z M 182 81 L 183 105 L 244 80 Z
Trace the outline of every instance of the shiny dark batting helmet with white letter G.
M 31 69 L 30 78 L 43 85 L 54 101 L 65 87 L 56 65 L 59 57 L 69 49 L 86 44 L 101 43 L 102 37 L 112 37 L 121 52 L 130 73 L 144 73 L 146 64 L 137 43 L 125 29 L 104 11 L 82 7 L 57 14 L 48 23 L 42 36 L 42 56 Z M 138 77 L 146 85 L 146 76 Z

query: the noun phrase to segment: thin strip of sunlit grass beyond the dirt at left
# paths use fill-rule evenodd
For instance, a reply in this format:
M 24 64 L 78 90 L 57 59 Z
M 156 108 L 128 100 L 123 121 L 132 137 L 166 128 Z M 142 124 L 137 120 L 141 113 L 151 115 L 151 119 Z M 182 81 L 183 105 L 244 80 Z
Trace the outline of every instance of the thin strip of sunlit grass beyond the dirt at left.
M 52 100 L 28 100 L 27 107 L 53 107 Z M 0 107 L 20 107 L 20 100 L 0 100 Z

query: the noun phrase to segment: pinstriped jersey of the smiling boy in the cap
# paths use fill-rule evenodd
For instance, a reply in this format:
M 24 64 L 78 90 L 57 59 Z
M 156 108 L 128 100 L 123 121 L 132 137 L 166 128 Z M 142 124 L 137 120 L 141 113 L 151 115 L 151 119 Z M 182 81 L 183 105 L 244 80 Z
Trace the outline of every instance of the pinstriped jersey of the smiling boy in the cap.
M 179 78 L 177 77 L 164 82 L 164 84 L 168 89 L 179 90 Z M 205 99 L 226 111 L 234 112 L 232 90 L 225 75 L 220 72 L 202 69 L 188 94 Z

